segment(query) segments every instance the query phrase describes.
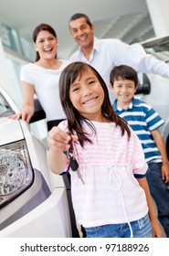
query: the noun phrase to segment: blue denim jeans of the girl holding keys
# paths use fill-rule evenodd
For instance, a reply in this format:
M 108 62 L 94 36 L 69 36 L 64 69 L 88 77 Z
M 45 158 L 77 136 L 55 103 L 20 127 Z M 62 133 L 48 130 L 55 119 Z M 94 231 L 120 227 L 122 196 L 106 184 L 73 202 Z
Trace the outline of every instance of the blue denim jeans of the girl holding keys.
M 130 222 L 133 238 L 152 238 L 152 228 L 148 215 L 143 219 Z M 131 229 L 128 223 L 109 224 L 85 228 L 87 238 L 130 238 Z

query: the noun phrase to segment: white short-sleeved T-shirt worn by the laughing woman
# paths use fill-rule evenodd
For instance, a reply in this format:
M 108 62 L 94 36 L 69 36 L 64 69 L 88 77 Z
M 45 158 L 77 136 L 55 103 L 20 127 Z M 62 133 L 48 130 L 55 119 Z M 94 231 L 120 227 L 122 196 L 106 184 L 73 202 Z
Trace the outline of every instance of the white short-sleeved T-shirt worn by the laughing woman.
M 62 65 L 59 69 L 44 69 L 33 63 L 26 64 L 21 69 L 20 80 L 34 86 L 37 99 L 46 112 L 47 121 L 64 119 L 58 90 L 58 79 L 61 71 L 69 64 L 68 60 L 60 59 Z

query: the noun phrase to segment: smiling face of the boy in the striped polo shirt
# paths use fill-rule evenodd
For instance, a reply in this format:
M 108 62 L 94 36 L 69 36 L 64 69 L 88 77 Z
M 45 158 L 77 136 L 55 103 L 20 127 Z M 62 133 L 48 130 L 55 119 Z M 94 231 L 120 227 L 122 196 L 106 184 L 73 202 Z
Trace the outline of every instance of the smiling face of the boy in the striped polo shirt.
M 117 99 L 118 105 L 125 108 L 130 105 L 137 86 L 132 80 L 115 80 L 111 85 L 111 90 Z

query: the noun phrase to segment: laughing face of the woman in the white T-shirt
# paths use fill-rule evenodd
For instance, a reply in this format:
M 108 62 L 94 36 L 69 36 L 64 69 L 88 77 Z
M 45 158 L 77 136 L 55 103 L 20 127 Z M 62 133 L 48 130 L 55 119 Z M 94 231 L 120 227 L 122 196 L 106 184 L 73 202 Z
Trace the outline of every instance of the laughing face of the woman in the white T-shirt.
M 35 48 L 40 59 L 55 59 L 57 54 L 58 40 L 48 30 L 42 30 L 37 35 Z

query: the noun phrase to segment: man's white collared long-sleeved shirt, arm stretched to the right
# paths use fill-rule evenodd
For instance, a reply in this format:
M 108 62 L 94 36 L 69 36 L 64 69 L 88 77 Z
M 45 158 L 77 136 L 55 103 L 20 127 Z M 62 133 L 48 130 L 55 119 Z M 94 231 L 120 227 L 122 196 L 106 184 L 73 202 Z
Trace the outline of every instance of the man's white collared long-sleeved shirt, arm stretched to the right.
M 111 69 L 119 65 L 131 66 L 136 71 L 153 73 L 169 78 L 169 65 L 164 61 L 146 54 L 140 44 L 128 45 L 120 39 L 98 39 L 94 37 L 93 51 L 90 60 L 86 59 L 83 52 L 76 51 L 70 57 L 70 61 L 84 61 L 97 69 L 106 84 L 110 84 Z M 108 87 L 109 91 L 111 89 Z M 110 93 L 111 100 L 113 93 Z

